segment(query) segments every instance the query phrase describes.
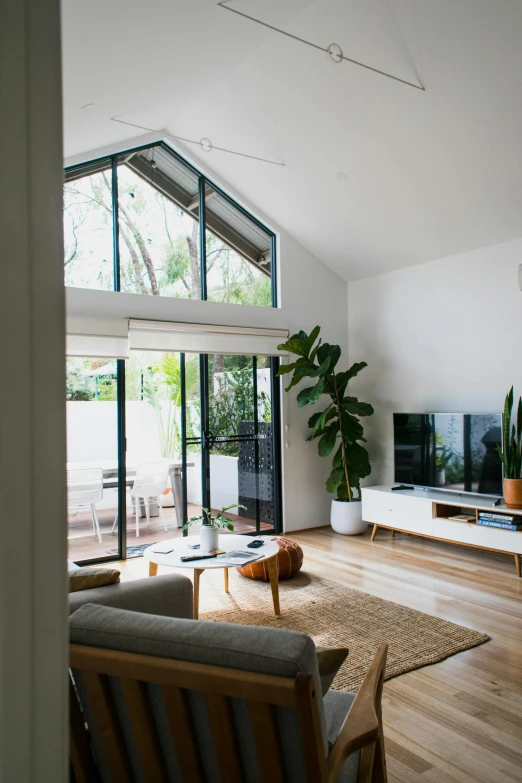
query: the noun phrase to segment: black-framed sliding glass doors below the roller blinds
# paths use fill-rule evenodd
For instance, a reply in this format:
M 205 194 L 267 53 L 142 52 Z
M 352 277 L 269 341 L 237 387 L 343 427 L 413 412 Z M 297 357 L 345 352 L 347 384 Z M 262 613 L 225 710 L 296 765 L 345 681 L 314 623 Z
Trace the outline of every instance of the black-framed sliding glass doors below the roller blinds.
M 68 360 L 70 558 L 140 556 L 202 506 L 236 506 L 236 533 L 278 532 L 277 366 L 160 351 Z

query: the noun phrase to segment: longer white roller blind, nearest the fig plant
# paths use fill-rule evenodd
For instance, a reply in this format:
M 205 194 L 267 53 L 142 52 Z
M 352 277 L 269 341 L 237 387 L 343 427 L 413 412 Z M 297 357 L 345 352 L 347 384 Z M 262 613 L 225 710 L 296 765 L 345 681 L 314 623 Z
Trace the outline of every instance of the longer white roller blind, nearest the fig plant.
M 130 347 L 142 351 L 283 356 L 277 346 L 287 339 L 286 329 L 129 321 Z

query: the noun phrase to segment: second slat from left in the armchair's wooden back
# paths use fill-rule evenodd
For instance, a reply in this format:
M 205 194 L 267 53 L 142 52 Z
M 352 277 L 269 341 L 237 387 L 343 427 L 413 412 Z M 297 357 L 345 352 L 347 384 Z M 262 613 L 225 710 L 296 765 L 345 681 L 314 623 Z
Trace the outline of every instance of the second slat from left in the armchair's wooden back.
M 165 783 L 167 772 L 146 685 L 128 679 L 120 684 L 147 783 Z

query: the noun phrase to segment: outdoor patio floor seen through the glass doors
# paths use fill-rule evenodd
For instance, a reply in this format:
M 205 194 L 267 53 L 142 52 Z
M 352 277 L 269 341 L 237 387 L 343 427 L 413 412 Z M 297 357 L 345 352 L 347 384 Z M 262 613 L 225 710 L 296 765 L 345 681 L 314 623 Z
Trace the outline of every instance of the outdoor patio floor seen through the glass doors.
M 189 504 L 187 509 L 187 516 L 197 516 L 201 513 L 199 506 Z M 215 513 L 215 510 L 214 510 Z M 164 508 L 164 521 L 167 523 L 167 532 L 163 527 L 163 522 L 160 517 L 151 517 L 150 523 L 147 526 L 146 519 L 140 518 L 140 535 L 136 536 L 136 517 L 134 514 L 129 514 L 127 517 L 127 546 L 136 546 L 140 544 L 151 545 L 158 543 L 159 541 L 165 541 L 169 538 L 178 538 L 182 535 L 181 528 L 177 526 L 176 511 L 174 508 Z M 102 543 L 98 541 L 97 536 L 93 533 L 92 521 L 90 511 L 78 511 L 69 514 L 68 521 L 68 540 L 69 540 L 69 554 L 70 560 L 94 560 L 98 558 L 107 557 L 108 555 L 116 555 L 118 547 L 118 530 L 114 533 L 111 532 L 114 517 L 116 515 L 116 509 L 99 509 L 97 511 L 98 519 L 100 521 L 100 531 L 102 535 Z M 244 533 L 247 535 L 256 534 L 255 520 L 250 520 L 245 517 L 239 517 L 235 514 L 228 514 L 233 525 L 234 533 Z M 271 531 L 270 525 L 265 522 L 261 522 L 262 533 Z M 199 525 L 194 525 L 190 534 L 197 534 L 199 531 Z

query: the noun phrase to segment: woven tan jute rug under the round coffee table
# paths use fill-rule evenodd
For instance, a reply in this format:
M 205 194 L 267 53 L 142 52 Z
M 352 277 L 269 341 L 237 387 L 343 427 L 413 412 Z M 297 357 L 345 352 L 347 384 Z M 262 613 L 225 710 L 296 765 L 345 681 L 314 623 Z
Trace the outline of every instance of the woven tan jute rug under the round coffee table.
M 333 683 L 338 690 L 359 688 L 380 642 L 389 645 L 385 676 L 389 680 L 489 639 L 478 631 L 303 572 L 279 583 L 278 618 L 269 584 L 245 579 L 233 568 L 229 574 L 228 595 L 221 570 L 202 574 L 200 619 L 305 631 L 316 644 L 348 647 L 350 654 Z

